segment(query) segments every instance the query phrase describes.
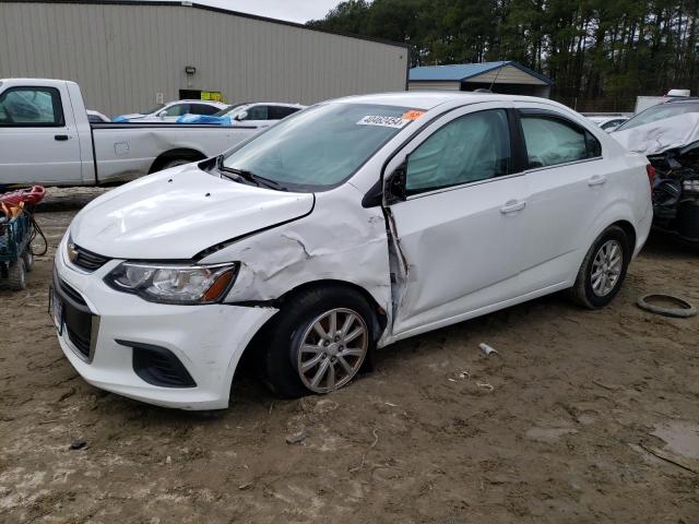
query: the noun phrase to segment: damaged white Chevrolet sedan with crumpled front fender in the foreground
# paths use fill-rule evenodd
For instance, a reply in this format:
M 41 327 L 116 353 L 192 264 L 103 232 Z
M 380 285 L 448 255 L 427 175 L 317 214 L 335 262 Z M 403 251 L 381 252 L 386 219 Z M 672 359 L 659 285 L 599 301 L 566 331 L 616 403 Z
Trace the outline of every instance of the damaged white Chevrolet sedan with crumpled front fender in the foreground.
M 82 210 L 55 260 L 60 345 L 92 384 L 223 408 L 244 354 L 281 396 L 370 352 L 561 289 L 616 295 L 648 162 L 549 100 L 350 97 Z

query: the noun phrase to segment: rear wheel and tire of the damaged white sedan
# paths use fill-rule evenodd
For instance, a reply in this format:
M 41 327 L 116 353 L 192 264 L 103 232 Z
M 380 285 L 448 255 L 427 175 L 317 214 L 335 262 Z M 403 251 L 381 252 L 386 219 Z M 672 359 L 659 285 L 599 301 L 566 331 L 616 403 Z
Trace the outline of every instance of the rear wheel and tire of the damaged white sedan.
M 609 262 L 616 260 L 617 253 L 621 260 L 618 265 L 611 264 Z M 599 309 L 608 305 L 619 293 L 630 259 L 631 248 L 624 229 L 619 226 L 606 228 L 582 261 L 576 284 L 570 289 L 572 300 L 588 309 Z

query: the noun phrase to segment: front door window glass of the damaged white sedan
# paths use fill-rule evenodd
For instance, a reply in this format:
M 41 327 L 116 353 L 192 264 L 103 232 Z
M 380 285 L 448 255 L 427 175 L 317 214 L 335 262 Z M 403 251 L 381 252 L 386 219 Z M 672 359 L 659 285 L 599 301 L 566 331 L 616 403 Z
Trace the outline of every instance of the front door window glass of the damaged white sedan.
M 485 180 L 511 172 L 507 111 L 457 118 L 435 131 L 407 157 L 408 194 Z

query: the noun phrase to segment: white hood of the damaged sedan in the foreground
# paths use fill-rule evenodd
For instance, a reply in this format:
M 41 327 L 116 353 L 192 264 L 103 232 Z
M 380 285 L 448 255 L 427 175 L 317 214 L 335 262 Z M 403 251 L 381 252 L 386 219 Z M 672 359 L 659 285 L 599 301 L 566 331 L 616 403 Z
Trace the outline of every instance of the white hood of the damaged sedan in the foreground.
M 246 186 L 175 167 L 115 189 L 85 206 L 72 241 L 95 253 L 140 260 L 191 259 L 202 250 L 307 215 L 312 193 Z

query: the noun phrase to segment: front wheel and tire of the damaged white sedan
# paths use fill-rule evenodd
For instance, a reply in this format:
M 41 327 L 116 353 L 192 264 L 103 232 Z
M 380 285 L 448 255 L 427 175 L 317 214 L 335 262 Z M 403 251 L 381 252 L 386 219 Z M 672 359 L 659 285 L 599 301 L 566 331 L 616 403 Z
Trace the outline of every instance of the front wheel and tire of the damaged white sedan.
M 336 319 L 334 334 L 330 333 L 333 312 Z M 364 332 L 344 346 L 342 327 L 348 319 L 352 324 L 345 335 L 352 336 L 357 330 Z M 332 336 L 321 337 L 315 327 L 317 323 L 325 335 Z M 270 325 L 262 371 L 272 392 L 282 398 L 329 393 L 346 385 L 356 377 L 376 341 L 371 308 L 359 293 L 342 286 L 300 291 Z M 303 369 L 304 365 L 311 364 L 312 367 Z M 313 378 L 323 367 L 325 371 L 320 382 L 313 384 Z

